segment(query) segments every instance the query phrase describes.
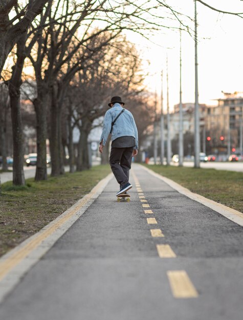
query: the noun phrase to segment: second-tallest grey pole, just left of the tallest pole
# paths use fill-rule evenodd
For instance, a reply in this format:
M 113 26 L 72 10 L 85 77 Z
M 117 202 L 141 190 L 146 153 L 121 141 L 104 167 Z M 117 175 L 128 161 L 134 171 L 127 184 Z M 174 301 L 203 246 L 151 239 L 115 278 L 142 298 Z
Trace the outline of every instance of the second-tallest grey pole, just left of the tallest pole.
M 179 108 L 179 166 L 183 166 L 183 111 L 182 111 L 182 29 L 180 28 L 180 108 Z

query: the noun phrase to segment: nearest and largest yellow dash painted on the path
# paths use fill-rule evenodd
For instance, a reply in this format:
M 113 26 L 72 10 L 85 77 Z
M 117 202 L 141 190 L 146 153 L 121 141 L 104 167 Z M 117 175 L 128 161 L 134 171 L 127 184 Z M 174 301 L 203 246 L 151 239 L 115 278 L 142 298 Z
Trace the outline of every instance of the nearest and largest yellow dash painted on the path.
M 174 298 L 197 298 L 198 293 L 186 271 L 167 271 Z

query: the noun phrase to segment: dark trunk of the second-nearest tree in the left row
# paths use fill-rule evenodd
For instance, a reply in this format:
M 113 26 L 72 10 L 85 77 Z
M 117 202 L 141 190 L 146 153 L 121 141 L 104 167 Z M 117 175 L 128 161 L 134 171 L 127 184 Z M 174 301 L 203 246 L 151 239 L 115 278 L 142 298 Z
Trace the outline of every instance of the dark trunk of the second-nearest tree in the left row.
M 45 87 L 38 89 L 38 96 L 34 99 L 36 115 L 37 163 L 35 180 L 47 180 L 47 105 L 48 91 Z

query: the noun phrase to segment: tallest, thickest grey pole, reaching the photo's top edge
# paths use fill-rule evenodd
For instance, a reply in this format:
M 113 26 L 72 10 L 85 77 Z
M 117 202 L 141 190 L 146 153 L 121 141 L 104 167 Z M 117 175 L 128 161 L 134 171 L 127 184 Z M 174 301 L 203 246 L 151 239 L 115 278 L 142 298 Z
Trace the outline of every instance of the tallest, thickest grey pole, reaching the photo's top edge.
M 194 168 L 200 168 L 200 115 L 198 105 L 198 74 L 197 74 L 197 12 L 195 3 L 195 110 L 194 110 Z

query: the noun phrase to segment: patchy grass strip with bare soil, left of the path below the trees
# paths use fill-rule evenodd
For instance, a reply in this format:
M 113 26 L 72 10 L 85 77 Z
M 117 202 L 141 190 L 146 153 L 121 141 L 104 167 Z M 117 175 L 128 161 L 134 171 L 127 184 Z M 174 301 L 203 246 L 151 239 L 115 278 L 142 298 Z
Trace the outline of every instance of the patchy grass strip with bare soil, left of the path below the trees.
M 26 186 L 2 185 L 0 196 L 0 256 L 69 209 L 111 172 L 110 167 L 26 180 Z

